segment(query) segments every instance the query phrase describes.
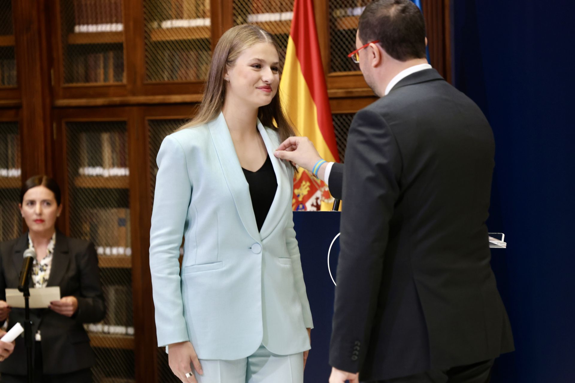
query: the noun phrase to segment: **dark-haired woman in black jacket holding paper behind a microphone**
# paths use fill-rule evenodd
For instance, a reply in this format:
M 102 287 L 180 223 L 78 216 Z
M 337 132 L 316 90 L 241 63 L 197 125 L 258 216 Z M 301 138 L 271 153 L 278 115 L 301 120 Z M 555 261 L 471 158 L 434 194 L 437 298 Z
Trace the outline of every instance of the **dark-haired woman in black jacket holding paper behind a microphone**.
M 34 382 L 91 382 L 94 351 L 83 323 L 99 322 L 105 315 L 94 245 L 56 231 L 62 204 L 60 188 L 50 177 L 28 179 L 19 207 L 28 233 L 0 243 L 0 326 L 6 320 L 8 329 L 24 322 L 24 309 L 6 304 L 6 288 L 17 288 L 24 250 L 33 249 L 30 287 L 59 286 L 62 295 L 47 309 L 30 310 Z M 22 337 L 16 339 L 14 354 L 0 362 L 0 374 L 2 383 L 27 382 Z

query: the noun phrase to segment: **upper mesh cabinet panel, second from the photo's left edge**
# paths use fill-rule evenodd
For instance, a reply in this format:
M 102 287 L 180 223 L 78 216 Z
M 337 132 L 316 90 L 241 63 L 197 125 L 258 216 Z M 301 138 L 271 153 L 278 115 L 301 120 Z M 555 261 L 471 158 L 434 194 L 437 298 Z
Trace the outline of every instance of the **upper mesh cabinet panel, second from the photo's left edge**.
M 60 0 L 64 84 L 124 83 L 122 0 Z

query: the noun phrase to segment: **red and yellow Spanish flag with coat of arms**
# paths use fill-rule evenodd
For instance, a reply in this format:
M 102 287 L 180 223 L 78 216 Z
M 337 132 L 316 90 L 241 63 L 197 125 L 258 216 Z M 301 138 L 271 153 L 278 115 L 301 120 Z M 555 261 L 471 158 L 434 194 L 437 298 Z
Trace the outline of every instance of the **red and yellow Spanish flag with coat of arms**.
M 312 0 L 295 0 L 279 91 L 294 127 L 326 161 L 339 162 Z M 323 181 L 300 169 L 294 177 L 293 210 L 331 210 Z

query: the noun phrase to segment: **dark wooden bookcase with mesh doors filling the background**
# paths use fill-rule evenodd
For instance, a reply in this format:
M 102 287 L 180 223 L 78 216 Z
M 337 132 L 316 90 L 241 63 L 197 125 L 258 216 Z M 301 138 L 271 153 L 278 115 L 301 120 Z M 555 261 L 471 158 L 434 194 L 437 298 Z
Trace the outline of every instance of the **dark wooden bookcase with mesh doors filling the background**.
M 314 0 L 342 159 L 354 113 L 376 99 L 347 58 L 367 2 Z M 431 63 L 449 80 L 449 2 L 422 3 Z M 95 381 L 177 382 L 155 338 L 155 158 L 201 101 L 221 34 L 253 22 L 285 49 L 293 0 L 0 0 L 0 8 L 9 10 L 0 15 L 0 73 L 11 60 L 9 84 L 0 75 L 0 140 L 11 135 L 20 145 L 5 152 L 21 169 L 11 178 L 0 170 L 0 199 L 13 206 L 22 180 L 48 173 L 63 191 L 59 229 L 98 247 L 109 315 L 89 327 Z

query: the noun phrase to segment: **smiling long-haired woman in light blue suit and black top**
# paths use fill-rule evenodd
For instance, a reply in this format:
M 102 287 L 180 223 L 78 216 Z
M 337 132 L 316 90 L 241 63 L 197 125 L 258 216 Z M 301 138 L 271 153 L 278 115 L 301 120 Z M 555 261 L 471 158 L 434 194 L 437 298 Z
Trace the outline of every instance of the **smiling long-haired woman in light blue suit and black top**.
M 278 86 L 271 34 L 229 29 L 196 118 L 158 153 L 156 330 L 182 382 L 303 381 L 313 324 L 293 230 L 293 168 L 273 155 L 294 134 Z

